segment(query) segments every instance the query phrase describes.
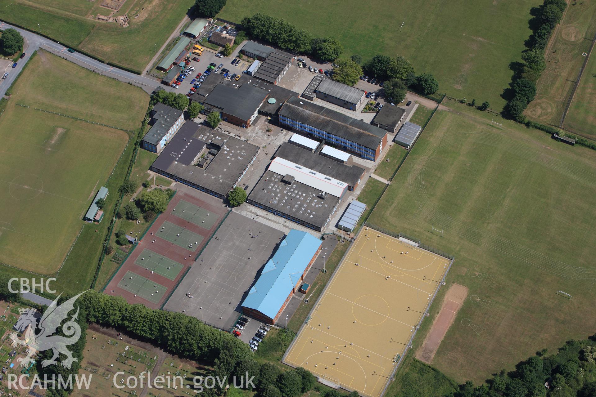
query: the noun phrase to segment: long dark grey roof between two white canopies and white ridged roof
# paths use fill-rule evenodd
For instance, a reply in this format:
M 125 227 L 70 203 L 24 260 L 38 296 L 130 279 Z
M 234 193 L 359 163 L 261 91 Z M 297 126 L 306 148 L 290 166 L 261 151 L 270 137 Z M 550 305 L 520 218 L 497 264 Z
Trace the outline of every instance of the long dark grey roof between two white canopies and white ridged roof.
M 364 174 L 364 168 L 342 164 L 339 161 L 331 160 L 288 142 L 281 144 L 274 157 L 281 157 L 298 165 L 303 165 L 313 171 L 346 182 L 350 186 L 358 183 L 358 180 Z

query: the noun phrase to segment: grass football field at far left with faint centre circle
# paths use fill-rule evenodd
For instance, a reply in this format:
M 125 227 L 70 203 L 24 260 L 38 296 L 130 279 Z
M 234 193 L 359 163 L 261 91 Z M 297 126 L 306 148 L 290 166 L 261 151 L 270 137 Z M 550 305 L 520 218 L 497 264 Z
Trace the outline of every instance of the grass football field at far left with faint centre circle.
M 82 216 L 129 136 L 33 107 L 91 120 L 110 114 L 111 124 L 134 128 L 142 121 L 148 96 L 44 51 L 29 62 L 0 117 L 0 261 L 49 274 L 62 264 L 83 227 Z M 72 85 L 64 86 L 64 76 Z M 117 196 L 116 186 L 110 187 L 108 202 Z M 103 226 L 107 223 L 100 229 Z M 89 255 L 80 259 L 93 261 Z M 94 273 L 93 264 L 79 261 L 75 268 L 79 270 L 66 274 L 89 268 Z M 77 282 L 82 278 L 76 277 Z

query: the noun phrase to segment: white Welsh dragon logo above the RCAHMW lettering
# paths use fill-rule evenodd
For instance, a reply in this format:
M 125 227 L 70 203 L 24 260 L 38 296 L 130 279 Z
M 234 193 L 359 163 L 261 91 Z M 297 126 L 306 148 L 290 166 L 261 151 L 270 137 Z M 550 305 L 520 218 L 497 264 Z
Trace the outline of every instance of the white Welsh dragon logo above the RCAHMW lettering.
M 54 299 L 54 302 L 49 305 L 44 312 L 44 315 L 42 315 L 42 317 L 39 319 L 39 324 L 38 320 L 34 317 L 35 309 L 27 308 L 20 310 L 21 317 L 18 319 L 17 324 L 14 327 L 19 332 L 25 331 L 23 334 L 23 340 L 17 339 L 16 332 L 11 333 L 10 337 L 13 340 L 14 347 L 17 345 L 29 347 L 27 356 L 24 358 L 18 358 L 24 367 L 27 367 L 32 361 L 34 361 L 31 358 L 33 353 L 36 351 L 46 351 L 49 349 L 52 349 L 54 355 L 50 360 L 42 361 L 42 367 L 58 364 L 56 359 L 60 353 L 66 355 L 66 360 L 61 362 L 64 368 L 70 369 L 73 362 L 78 361 L 76 357 L 73 357 L 69 349 L 66 348 L 66 346 L 76 343 L 80 338 L 80 326 L 75 321 L 79 315 L 78 306 L 76 313 L 72 315 L 69 321 L 66 321 L 66 323 L 62 325 L 62 332 L 66 336 L 52 334 L 57 332 L 62 321 L 69 317 L 69 312 L 75 309 L 75 301 L 85 292 L 81 292 L 79 295 L 73 296 L 73 298 L 70 298 L 68 301 L 59 306 L 57 302 L 60 298 L 60 295 L 62 294 L 58 295 L 58 298 Z M 37 329 L 40 330 L 39 333 L 35 333 Z

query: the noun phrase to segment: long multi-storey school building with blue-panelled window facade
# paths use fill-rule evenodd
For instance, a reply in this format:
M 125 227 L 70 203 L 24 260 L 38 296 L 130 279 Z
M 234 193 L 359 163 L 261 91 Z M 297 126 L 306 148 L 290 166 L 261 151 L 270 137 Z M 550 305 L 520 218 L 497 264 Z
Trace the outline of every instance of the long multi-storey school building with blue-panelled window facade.
M 387 144 L 386 130 L 295 96 L 281 107 L 279 118 L 284 126 L 367 160 L 377 160 Z

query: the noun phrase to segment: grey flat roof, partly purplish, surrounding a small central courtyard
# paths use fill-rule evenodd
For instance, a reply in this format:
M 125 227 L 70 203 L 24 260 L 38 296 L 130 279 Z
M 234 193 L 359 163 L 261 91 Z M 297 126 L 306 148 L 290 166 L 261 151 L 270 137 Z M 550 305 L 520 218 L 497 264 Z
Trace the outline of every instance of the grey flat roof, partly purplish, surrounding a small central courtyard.
M 181 148 L 191 139 L 193 143 L 195 141 L 197 143 L 189 145 L 184 152 L 185 157 L 176 161 L 176 155 L 181 153 Z M 210 142 L 217 139 L 223 144 L 206 168 L 184 164 L 184 161 L 195 158 L 200 152 L 201 141 L 209 146 Z M 179 179 L 225 196 L 257 152 L 259 152 L 259 146 L 188 120 L 153 162 L 151 169 L 172 174 Z

